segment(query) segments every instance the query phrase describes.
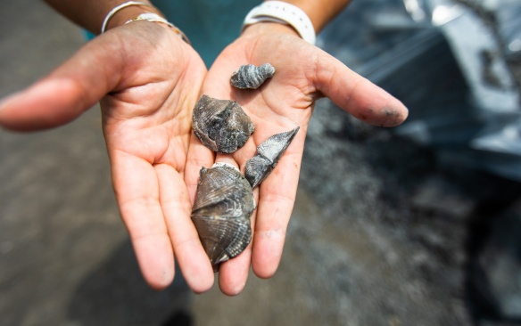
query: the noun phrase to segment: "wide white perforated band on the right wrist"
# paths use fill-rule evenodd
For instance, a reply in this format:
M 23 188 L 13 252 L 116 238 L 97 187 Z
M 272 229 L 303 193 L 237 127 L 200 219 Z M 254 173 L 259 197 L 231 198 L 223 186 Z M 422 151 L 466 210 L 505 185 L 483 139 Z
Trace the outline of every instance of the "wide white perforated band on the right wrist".
M 310 18 L 301 8 L 283 1 L 266 1 L 244 18 L 243 29 L 261 21 L 273 21 L 293 27 L 304 41 L 314 45 L 317 38 Z

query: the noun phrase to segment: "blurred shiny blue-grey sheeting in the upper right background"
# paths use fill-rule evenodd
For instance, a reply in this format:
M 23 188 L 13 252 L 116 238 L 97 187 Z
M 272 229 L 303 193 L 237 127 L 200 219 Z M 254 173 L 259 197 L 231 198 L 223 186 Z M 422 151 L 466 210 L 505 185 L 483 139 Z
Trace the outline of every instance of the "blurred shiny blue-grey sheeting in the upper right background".
M 353 2 L 319 45 L 407 105 L 396 134 L 521 181 L 519 17 L 518 0 Z

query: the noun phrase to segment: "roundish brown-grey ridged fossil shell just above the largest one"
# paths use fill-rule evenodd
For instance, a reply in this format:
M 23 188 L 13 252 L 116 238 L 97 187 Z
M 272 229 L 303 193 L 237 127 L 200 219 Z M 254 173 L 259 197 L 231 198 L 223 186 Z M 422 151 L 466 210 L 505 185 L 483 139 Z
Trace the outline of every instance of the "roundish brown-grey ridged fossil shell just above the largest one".
M 195 104 L 192 127 L 206 147 L 223 153 L 242 147 L 255 129 L 237 102 L 208 95 L 201 96 Z

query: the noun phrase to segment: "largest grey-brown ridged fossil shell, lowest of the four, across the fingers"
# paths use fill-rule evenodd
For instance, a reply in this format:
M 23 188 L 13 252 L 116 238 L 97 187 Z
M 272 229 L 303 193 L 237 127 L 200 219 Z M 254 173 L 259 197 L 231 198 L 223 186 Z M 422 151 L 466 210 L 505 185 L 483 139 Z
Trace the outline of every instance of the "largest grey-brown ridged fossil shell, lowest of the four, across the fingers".
M 214 270 L 252 240 L 253 209 L 252 186 L 236 167 L 216 163 L 201 169 L 192 220 Z

